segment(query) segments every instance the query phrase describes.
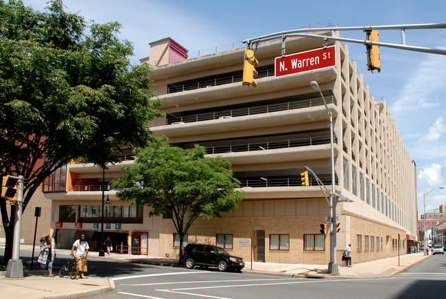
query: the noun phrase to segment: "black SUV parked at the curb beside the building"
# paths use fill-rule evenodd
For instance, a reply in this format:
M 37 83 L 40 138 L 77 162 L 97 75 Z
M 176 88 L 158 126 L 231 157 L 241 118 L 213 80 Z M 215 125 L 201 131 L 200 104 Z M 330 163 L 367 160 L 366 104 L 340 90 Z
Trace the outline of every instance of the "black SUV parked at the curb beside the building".
M 195 266 L 217 267 L 218 271 L 226 269 L 241 270 L 245 267 L 243 258 L 231 256 L 221 247 L 207 244 L 188 244 L 181 255 L 187 269 Z

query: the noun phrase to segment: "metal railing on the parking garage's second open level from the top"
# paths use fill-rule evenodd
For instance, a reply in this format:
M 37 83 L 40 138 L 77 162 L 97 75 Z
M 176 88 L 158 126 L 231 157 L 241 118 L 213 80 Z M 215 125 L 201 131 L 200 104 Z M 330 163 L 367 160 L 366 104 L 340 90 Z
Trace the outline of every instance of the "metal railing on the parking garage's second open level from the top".
M 325 97 L 327 104 L 335 103 L 334 96 Z M 277 111 L 286 111 L 292 109 L 300 109 L 307 107 L 316 107 L 323 105 L 324 102 L 322 98 L 311 98 L 307 100 L 298 100 L 294 102 L 283 102 L 279 104 L 267 104 L 254 107 L 228 109 L 222 111 L 208 112 L 208 113 L 197 113 L 191 115 L 185 115 L 180 118 L 174 118 L 167 115 L 166 124 L 183 123 L 183 122 L 202 122 L 204 120 L 218 120 L 220 118 L 235 118 L 237 116 L 245 115 L 255 115 L 261 113 L 271 113 Z

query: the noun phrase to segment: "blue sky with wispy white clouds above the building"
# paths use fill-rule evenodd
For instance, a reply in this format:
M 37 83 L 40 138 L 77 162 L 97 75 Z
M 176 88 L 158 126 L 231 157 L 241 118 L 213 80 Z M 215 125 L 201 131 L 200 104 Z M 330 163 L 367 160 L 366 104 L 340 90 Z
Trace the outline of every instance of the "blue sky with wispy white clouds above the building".
M 23 0 L 43 11 L 46 0 Z M 192 52 L 240 43 L 247 38 L 303 27 L 362 27 L 446 23 L 445 0 L 375 1 L 213 1 L 64 0 L 86 21 L 118 21 L 120 38 L 134 45 L 132 64 L 150 56 L 149 43 L 171 37 Z M 362 31 L 341 37 L 364 40 Z M 382 43 L 401 44 L 399 30 L 379 30 Z M 406 30 L 406 45 L 446 49 L 446 29 Z M 261 45 L 259 45 L 261 47 Z M 364 74 L 375 100 L 390 107 L 408 153 L 416 163 L 418 209 L 446 204 L 446 56 L 380 48 L 381 72 L 367 71 L 364 45 L 349 43 L 350 59 Z M 287 53 L 288 54 L 288 53 Z M 277 56 L 280 56 L 278 53 Z

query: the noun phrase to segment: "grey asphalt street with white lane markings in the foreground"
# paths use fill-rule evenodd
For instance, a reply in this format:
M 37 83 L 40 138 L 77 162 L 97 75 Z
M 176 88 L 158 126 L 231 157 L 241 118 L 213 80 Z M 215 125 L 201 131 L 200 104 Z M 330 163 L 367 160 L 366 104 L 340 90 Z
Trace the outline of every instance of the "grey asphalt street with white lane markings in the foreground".
M 107 277 L 113 278 L 116 289 L 89 298 L 425 298 L 446 291 L 444 255 L 431 256 L 392 277 L 370 279 L 305 279 L 144 265 L 134 274 L 128 269 L 113 272 Z

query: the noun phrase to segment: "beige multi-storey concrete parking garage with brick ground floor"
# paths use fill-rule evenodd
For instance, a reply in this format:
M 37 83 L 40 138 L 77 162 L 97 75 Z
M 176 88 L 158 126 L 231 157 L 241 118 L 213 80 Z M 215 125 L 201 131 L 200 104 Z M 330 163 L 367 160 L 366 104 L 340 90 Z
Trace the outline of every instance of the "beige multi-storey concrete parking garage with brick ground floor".
M 152 132 L 169 137 L 172 146 L 200 144 L 208 155 L 226 157 L 245 192 L 239 208 L 222 219 L 194 222 L 187 243 L 216 244 L 248 261 L 329 262 L 330 236 L 320 233 L 329 203 L 314 177 L 301 186 L 300 175 L 307 166 L 331 190 L 327 111 L 309 85 L 316 80 L 333 114 L 336 192 L 353 200 L 337 204 L 337 261 L 349 243 L 356 263 L 410 251 L 417 232 L 416 165 L 386 100 L 368 93 L 347 45 L 329 43 L 334 67 L 277 78 L 281 41 L 263 43 L 256 52 L 256 88 L 242 86 L 245 48 L 187 59 L 187 50 L 171 38 L 150 45 L 151 56 L 141 63 L 154 67 L 150 77 L 166 113 L 152 122 Z M 286 40 L 290 54 L 321 47 L 315 38 Z M 129 153 L 123 164 L 133 160 Z M 106 236 L 117 244 L 128 241 L 141 254 L 178 257 L 171 219 L 150 218 L 147 207 L 115 197 L 109 182 L 120 168 L 102 173 L 93 164 L 70 164 L 43 188 L 51 199 L 56 245 L 67 247 L 80 232 L 97 240 L 104 194 L 111 203 L 104 210 Z M 55 190 L 58 180 L 65 184 Z

